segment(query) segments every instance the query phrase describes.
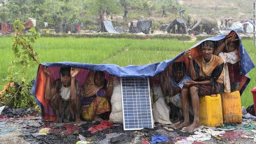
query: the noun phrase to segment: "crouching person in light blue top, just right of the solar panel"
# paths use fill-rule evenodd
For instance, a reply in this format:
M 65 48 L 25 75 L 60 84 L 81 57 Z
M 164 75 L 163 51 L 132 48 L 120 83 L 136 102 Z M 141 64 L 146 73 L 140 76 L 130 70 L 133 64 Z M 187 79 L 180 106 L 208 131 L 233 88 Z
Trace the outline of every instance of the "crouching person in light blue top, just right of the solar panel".
M 186 64 L 184 62 L 174 62 L 172 64 L 172 74 L 169 74 L 169 66 L 160 73 L 162 93 L 165 96 L 166 104 L 171 107 L 172 115 L 182 118 L 181 89 L 184 82 L 192 80 L 186 75 Z

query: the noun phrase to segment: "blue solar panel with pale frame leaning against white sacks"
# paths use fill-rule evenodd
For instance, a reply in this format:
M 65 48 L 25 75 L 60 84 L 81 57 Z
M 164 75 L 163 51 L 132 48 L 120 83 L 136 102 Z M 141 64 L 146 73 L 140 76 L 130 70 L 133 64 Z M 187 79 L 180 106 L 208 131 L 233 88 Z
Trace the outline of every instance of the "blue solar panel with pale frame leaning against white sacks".
M 121 78 L 124 130 L 153 128 L 148 78 Z

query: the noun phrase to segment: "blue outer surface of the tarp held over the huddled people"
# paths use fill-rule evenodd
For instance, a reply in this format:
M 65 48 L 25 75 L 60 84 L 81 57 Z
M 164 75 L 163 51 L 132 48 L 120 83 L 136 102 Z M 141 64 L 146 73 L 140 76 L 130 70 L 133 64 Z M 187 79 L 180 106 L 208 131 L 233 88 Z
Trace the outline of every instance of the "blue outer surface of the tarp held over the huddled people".
M 234 31 L 232 30 L 231 32 L 234 32 Z M 240 74 L 246 74 L 250 70 L 252 70 L 255 66 L 250 56 L 246 52 L 244 45 L 242 44 L 241 37 L 239 36 L 239 34 L 237 35 L 240 40 L 240 56 L 241 56 Z M 206 38 L 196 43 L 191 48 L 198 47 L 202 42 L 206 40 L 213 40 L 213 41 L 219 41 L 219 42 L 223 41 L 226 36 L 228 36 L 228 34 Z M 77 68 L 83 68 L 86 70 L 96 70 L 96 71 L 106 70 L 106 72 L 108 72 L 109 74 L 112 74 L 118 77 L 123 77 L 123 78 L 147 78 L 147 77 L 149 78 L 165 70 L 172 62 L 174 62 L 180 56 L 182 56 L 184 52 L 185 51 L 181 52 L 178 56 L 176 56 L 173 59 L 165 60 L 163 62 L 157 62 L 153 64 L 147 64 L 147 65 L 129 65 L 129 66 L 122 67 L 116 64 L 86 64 L 86 63 L 76 63 L 76 62 L 42 63 L 42 65 L 50 66 L 50 67 L 72 66 Z M 39 67 L 38 67 L 38 70 L 39 70 Z M 34 82 L 34 86 L 31 91 L 31 94 L 33 95 L 35 94 L 35 90 L 36 90 L 35 86 L 36 86 L 36 81 Z

